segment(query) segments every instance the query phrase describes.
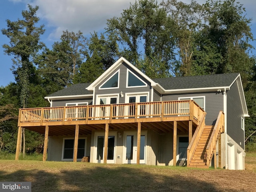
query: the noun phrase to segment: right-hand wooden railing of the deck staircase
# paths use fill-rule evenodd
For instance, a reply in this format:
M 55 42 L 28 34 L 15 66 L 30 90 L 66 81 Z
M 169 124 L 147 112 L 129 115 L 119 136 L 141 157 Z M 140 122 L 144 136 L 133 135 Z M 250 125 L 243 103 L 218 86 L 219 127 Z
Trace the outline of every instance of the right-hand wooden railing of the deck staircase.
M 223 133 L 223 128 L 224 128 L 224 112 L 220 111 L 218 118 L 216 120 L 216 123 L 214 125 L 212 135 L 206 147 L 207 165 L 210 165 L 210 162 L 212 161 L 212 157 L 213 157 L 212 154 L 216 149 L 216 144 L 220 136 L 220 133 Z

